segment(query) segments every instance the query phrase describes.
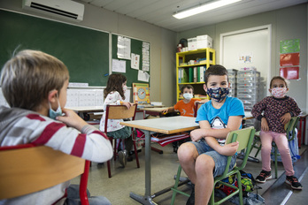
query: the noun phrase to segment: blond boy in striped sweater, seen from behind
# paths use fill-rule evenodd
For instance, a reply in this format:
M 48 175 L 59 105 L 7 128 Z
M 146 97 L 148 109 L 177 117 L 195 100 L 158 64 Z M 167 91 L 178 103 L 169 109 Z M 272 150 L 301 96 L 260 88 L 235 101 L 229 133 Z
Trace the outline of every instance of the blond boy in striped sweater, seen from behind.
M 112 146 L 106 135 L 64 108 L 68 80 L 66 66 L 56 57 L 35 50 L 12 57 L 1 72 L 2 91 L 11 108 L 0 107 L 0 146 L 32 143 L 97 163 L 109 160 Z M 0 204 L 78 202 L 71 187 L 68 181 Z M 104 197 L 89 197 L 89 202 L 111 204 Z

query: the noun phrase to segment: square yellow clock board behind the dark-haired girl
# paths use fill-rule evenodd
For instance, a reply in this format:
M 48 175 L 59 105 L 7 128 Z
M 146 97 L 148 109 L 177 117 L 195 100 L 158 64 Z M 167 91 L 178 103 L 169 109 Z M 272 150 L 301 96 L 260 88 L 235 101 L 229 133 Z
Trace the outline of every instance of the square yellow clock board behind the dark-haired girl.
M 149 84 L 133 83 L 133 99 L 137 104 L 150 104 Z

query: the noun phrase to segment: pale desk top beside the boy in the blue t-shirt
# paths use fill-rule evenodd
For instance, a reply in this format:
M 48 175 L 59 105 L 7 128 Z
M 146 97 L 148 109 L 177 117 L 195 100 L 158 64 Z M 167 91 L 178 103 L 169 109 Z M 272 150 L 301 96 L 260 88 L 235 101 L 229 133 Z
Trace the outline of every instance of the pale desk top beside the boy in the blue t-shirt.
M 195 122 L 196 118 L 176 116 L 169 118 L 152 118 L 135 121 L 121 122 L 120 125 L 126 125 L 142 130 L 148 130 L 155 133 L 180 133 L 194 130 L 199 127 Z

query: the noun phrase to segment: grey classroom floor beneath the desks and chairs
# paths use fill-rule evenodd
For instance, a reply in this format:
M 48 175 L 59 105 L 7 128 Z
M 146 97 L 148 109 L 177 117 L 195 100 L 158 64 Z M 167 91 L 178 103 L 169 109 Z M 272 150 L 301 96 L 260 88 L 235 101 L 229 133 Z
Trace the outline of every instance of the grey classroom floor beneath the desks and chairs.
M 159 155 L 155 151 L 151 151 L 151 193 L 158 192 L 174 183 L 173 176 L 177 171 L 179 162 L 171 145 L 162 148 L 158 144 L 153 144 L 153 147 L 161 148 L 164 154 Z M 308 146 L 302 146 L 300 153 L 303 153 Z M 254 150 L 251 153 L 253 155 Z M 260 155 L 258 156 L 258 158 Z M 133 162 L 127 163 L 126 168 L 121 168 L 119 162 L 112 161 L 112 178 L 108 178 L 106 163 L 103 165 L 92 163 L 89 173 L 89 191 L 92 195 L 104 195 L 114 205 L 135 205 L 138 202 L 129 197 L 130 192 L 136 194 L 144 194 L 144 152 L 139 153 L 141 168 L 136 167 L 135 159 Z M 240 161 L 238 162 L 240 163 Z M 273 167 L 273 164 L 272 164 Z M 301 183 L 304 190 L 308 187 L 308 151 L 304 152 L 302 158 L 295 163 L 296 176 L 301 178 Z M 261 171 L 261 163 L 248 162 L 246 172 L 250 172 L 254 177 L 258 176 Z M 284 174 L 283 166 L 279 163 L 279 176 Z M 185 174 L 183 173 L 183 177 Z M 78 183 L 78 178 L 73 178 L 73 183 Z M 306 191 L 292 192 L 290 187 L 284 183 L 285 176 L 281 178 L 266 181 L 266 184 L 261 184 L 261 190 L 258 194 L 266 198 L 266 204 L 281 204 L 283 199 L 288 197 L 285 204 L 307 204 L 308 195 Z M 181 186 L 182 190 L 190 194 L 190 186 Z M 254 191 L 256 193 L 256 191 Z M 154 198 L 154 201 L 161 205 L 170 204 L 172 192 L 159 195 Z M 186 196 L 178 195 L 175 204 L 186 204 Z M 278 202 L 278 200 L 280 202 Z M 226 202 L 225 204 L 230 204 Z

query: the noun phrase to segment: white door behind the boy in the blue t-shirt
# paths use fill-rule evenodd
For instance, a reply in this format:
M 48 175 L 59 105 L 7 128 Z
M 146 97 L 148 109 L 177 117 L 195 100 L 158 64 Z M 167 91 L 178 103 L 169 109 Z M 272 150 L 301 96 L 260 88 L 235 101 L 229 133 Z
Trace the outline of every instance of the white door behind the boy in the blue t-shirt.
M 227 69 L 240 70 L 256 67 L 266 82 L 271 79 L 271 26 L 253 27 L 220 34 L 221 65 Z M 264 95 L 268 95 L 265 87 Z

